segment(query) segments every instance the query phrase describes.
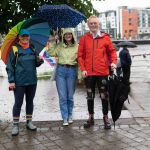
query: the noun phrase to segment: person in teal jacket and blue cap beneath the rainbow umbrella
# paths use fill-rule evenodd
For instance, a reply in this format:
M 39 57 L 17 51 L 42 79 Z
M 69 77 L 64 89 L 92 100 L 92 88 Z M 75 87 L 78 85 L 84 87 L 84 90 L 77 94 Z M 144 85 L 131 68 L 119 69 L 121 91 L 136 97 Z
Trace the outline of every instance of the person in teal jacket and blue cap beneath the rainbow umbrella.
M 36 55 L 33 45 L 29 44 L 30 33 L 22 29 L 18 42 L 10 50 L 6 71 L 8 74 L 9 90 L 14 91 L 12 136 L 19 134 L 19 118 L 24 96 L 26 98 L 27 129 L 36 131 L 32 124 L 33 99 L 37 86 L 36 66 L 42 64 L 42 58 Z

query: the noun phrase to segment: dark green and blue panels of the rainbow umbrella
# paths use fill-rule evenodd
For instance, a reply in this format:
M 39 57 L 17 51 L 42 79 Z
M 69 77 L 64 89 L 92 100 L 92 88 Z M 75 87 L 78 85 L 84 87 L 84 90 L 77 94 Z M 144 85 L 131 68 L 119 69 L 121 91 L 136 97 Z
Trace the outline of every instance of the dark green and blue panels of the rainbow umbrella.
M 39 53 L 49 38 L 50 26 L 48 22 L 40 18 L 30 18 L 23 23 L 21 29 L 27 29 L 30 32 L 31 43 Z

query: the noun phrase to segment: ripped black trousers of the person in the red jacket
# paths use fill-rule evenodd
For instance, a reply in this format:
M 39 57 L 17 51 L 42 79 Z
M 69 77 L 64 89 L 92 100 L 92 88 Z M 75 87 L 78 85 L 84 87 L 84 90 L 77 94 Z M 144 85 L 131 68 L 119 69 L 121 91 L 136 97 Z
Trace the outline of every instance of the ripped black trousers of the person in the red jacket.
M 108 92 L 107 92 L 107 76 L 88 76 L 85 78 L 87 88 L 87 105 L 89 114 L 94 114 L 94 98 L 95 88 L 98 87 L 100 98 L 102 101 L 103 115 L 108 114 Z

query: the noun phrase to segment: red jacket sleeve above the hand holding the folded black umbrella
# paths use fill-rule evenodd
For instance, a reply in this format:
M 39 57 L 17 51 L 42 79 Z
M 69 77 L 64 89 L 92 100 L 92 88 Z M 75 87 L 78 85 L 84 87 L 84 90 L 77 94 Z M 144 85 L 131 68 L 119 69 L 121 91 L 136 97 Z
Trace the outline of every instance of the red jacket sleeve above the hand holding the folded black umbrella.
M 111 60 L 111 63 L 114 63 L 117 65 L 117 53 L 116 53 L 116 49 L 112 43 L 112 41 L 110 40 L 109 37 L 107 37 L 107 51 L 109 53 L 109 57 Z

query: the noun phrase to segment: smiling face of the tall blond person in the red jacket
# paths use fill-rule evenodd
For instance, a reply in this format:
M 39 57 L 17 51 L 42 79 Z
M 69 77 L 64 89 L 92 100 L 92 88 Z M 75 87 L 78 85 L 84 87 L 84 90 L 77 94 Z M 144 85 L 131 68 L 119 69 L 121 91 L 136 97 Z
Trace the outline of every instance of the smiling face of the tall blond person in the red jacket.
M 88 21 L 88 27 L 89 27 L 91 32 L 97 33 L 99 28 L 100 28 L 99 20 L 97 18 L 91 18 Z

